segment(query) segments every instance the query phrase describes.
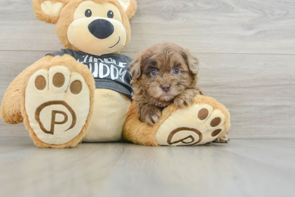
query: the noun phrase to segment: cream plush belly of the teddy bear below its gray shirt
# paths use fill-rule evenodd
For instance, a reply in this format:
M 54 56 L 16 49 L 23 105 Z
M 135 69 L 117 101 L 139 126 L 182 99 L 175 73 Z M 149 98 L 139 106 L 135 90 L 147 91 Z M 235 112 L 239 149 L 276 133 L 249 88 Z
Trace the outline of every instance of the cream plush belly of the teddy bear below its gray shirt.
M 93 116 L 84 142 L 119 141 L 131 100 L 116 91 L 96 88 Z

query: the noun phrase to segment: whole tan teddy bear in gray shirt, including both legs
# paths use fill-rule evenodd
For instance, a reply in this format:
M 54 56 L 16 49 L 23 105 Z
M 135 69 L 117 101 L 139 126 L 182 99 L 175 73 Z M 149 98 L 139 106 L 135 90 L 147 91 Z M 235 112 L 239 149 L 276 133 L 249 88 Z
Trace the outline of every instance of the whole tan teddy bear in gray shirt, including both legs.
M 65 49 L 46 54 L 11 82 L 1 118 L 23 122 L 36 146 L 74 147 L 81 141 L 199 145 L 227 141 L 226 108 L 198 95 L 185 109 L 173 104 L 154 126 L 141 123 L 131 102 L 128 65 L 135 0 L 33 0 L 36 17 L 56 24 Z

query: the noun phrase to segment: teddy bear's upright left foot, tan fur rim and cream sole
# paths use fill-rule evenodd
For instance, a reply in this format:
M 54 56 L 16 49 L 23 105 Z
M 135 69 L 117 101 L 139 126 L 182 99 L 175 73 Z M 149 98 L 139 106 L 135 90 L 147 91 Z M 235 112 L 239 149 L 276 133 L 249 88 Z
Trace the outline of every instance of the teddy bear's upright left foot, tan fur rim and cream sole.
M 27 71 L 20 89 L 23 122 L 35 145 L 66 148 L 88 129 L 95 85 L 71 56 L 56 56 Z

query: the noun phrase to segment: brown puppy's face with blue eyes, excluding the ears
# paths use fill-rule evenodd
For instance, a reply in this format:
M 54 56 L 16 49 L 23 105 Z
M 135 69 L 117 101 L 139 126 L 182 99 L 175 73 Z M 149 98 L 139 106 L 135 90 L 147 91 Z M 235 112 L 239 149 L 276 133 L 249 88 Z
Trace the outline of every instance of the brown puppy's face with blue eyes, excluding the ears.
M 147 58 L 139 79 L 152 97 L 169 101 L 191 83 L 191 73 L 179 53 L 161 52 Z

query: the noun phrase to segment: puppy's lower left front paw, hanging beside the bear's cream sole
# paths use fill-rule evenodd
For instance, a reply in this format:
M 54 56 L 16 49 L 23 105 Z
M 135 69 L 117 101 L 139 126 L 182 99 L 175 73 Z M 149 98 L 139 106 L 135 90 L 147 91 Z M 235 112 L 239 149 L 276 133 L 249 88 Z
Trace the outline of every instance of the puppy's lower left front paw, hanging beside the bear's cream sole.
M 161 110 L 156 106 L 147 106 L 141 111 L 141 122 L 153 126 L 162 116 Z

